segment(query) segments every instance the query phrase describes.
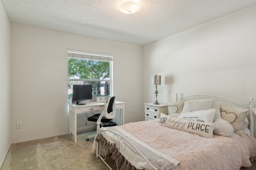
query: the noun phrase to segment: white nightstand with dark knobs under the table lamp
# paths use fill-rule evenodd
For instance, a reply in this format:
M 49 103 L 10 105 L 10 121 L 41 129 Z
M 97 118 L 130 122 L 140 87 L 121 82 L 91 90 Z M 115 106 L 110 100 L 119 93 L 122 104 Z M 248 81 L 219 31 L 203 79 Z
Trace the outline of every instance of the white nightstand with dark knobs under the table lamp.
M 145 106 L 145 120 L 158 119 L 160 113 L 168 115 L 168 104 L 153 104 L 144 103 Z

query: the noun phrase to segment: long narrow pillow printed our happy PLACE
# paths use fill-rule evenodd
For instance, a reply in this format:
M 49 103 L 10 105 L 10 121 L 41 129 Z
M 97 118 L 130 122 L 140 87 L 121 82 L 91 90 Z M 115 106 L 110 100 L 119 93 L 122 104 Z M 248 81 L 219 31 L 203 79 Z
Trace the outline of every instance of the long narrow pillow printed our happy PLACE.
M 214 123 L 202 123 L 192 120 L 186 120 L 177 117 L 171 117 L 163 113 L 161 113 L 160 115 L 158 124 L 161 126 L 178 129 L 207 138 L 212 137 L 215 127 Z

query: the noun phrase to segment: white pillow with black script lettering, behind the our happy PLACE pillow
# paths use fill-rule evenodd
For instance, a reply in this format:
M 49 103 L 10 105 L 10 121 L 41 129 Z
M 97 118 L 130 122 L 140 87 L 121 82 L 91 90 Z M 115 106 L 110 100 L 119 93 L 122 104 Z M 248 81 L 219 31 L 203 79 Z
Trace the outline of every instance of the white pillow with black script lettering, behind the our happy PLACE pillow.
M 205 123 L 213 123 L 216 109 L 200 110 L 182 113 L 178 118 L 200 121 Z

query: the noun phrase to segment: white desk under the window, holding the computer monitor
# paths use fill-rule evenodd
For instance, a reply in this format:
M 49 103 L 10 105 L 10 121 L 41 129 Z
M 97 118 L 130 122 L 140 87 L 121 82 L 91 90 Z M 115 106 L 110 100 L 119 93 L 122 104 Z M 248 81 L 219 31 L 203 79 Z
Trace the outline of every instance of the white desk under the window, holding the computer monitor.
M 77 118 L 78 113 L 85 113 L 91 111 L 103 111 L 103 102 L 92 102 L 86 103 L 85 105 L 69 104 L 69 135 L 74 136 L 74 142 L 76 143 L 76 133 L 77 133 Z M 116 125 L 124 124 L 124 102 L 115 103 L 115 118 L 114 122 Z

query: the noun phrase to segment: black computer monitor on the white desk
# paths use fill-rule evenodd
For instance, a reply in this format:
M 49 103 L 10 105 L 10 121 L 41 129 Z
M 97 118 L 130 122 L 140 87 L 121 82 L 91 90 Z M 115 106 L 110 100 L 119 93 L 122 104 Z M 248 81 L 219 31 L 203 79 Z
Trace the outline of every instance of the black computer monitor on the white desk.
M 92 100 L 92 85 L 89 84 L 73 84 L 73 102 L 76 104 L 82 100 Z

